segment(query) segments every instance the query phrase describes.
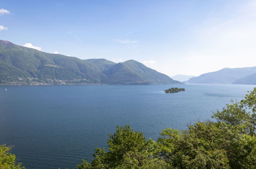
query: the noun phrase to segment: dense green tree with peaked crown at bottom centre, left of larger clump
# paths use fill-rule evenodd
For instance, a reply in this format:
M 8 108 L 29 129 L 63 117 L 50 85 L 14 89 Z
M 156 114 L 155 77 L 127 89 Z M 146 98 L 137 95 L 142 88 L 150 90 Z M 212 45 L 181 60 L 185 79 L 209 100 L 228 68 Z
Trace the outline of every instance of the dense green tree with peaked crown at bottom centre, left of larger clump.
M 160 158 L 154 157 L 156 143 L 146 140 L 140 132 L 130 126 L 117 126 L 116 133 L 109 135 L 108 152 L 97 148 L 91 164 L 83 161 L 78 168 L 161 168 L 167 166 Z

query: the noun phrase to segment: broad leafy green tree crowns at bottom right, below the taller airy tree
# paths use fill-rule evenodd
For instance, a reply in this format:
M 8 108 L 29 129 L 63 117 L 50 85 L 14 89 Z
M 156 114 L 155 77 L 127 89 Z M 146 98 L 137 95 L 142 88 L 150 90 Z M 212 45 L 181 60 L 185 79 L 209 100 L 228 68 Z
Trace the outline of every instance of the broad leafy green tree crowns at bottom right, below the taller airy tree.
M 184 132 L 166 129 L 159 156 L 172 168 L 253 168 L 256 139 L 225 123 L 198 122 Z

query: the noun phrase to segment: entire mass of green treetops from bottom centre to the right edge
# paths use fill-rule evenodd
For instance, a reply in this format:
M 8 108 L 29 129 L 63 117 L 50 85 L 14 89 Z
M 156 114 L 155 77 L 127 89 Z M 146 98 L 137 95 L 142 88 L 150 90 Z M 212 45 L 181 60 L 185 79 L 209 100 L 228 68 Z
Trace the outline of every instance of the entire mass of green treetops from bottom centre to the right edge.
M 254 168 L 256 88 L 240 102 L 181 132 L 164 129 L 156 142 L 130 126 L 109 135 L 108 152 L 96 149 L 91 163 L 78 168 Z

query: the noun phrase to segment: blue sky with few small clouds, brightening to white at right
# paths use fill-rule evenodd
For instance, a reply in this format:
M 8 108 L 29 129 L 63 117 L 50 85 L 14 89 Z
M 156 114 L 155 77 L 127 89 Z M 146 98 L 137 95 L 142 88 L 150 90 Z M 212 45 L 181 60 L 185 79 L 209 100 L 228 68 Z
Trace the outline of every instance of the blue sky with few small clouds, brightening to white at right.
M 169 76 L 256 66 L 256 0 L 0 1 L 0 39 Z

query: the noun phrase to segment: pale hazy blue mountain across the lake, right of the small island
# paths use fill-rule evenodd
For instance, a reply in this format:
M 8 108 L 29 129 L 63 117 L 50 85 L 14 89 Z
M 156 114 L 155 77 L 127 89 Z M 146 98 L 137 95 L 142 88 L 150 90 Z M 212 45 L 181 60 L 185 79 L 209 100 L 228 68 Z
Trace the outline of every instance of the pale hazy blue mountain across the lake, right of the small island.
M 224 68 L 216 72 L 202 74 L 192 77 L 185 83 L 211 83 L 211 84 L 231 84 L 235 80 L 244 78 L 256 73 L 256 67 L 247 68 Z

